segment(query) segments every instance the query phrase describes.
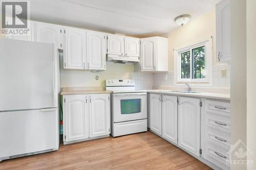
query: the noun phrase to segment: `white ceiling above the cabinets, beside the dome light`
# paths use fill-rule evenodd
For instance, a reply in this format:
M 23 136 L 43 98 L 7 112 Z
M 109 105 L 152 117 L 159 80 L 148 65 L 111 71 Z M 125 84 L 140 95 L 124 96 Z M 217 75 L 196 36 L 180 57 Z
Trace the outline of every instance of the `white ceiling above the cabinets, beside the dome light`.
M 31 0 L 31 19 L 138 37 L 163 35 L 181 14 L 198 17 L 220 0 Z

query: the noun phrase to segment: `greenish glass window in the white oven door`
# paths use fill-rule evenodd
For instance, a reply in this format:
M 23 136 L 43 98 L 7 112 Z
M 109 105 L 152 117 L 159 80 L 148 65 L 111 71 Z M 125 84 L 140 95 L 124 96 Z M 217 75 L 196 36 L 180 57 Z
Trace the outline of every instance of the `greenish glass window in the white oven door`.
M 121 100 L 121 114 L 133 114 L 141 112 L 141 99 Z

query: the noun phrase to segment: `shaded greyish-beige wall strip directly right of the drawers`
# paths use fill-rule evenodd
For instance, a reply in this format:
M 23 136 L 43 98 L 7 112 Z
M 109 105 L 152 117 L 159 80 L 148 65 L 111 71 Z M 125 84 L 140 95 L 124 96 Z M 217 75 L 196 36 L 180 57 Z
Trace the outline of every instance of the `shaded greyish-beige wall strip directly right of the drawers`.
M 231 144 L 246 143 L 246 1 L 230 1 L 231 38 Z M 255 105 L 255 104 L 254 104 Z M 254 130 L 255 131 L 255 130 Z M 255 135 L 255 134 L 254 134 Z M 254 143 L 255 144 L 255 143 Z M 232 155 L 233 156 L 233 155 Z M 231 159 L 237 160 L 235 156 Z M 231 169 L 246 169 L 232 167 Z

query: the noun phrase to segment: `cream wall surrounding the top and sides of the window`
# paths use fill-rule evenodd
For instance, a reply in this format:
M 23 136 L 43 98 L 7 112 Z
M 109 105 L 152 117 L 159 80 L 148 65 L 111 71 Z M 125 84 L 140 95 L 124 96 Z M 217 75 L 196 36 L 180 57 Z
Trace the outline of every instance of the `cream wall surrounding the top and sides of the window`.
M 167 34 L 168 36 L 168 65 L 169 70 L 174 69 L 174 49 L 200 39 L 213 36 L 213 64 L 216 65 L 216 19 L 215 9 L 190 20 L 183 27 Z

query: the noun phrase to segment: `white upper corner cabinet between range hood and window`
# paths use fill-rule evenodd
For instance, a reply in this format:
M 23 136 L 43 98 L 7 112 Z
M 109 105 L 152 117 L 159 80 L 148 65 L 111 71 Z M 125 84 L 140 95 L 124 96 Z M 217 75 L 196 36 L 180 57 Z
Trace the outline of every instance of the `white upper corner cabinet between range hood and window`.
M 141 38 L 141 71 L 168 71 L 168 39 Z

